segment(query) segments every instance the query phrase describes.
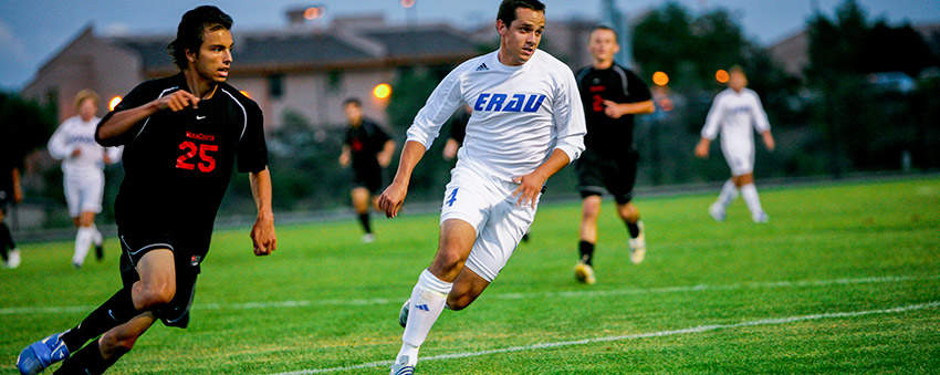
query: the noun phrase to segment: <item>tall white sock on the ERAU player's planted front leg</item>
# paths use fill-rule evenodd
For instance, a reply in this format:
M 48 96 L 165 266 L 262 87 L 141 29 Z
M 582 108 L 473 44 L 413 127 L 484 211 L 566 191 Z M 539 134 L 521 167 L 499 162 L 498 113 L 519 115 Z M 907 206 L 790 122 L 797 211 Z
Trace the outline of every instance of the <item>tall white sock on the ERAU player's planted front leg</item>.
M 418 283 L 411 290 L 411 306 L 408 312 L 408 324 L 401 335 L 401 350 L 396 358 L 408 356 L 408 364 L 418 363 L 418 348 L 428 337 L 431 326 L 443 311 L 447 294 L 453 283 L 441 281 L 430 271 L 425 270 L 418 278 Z

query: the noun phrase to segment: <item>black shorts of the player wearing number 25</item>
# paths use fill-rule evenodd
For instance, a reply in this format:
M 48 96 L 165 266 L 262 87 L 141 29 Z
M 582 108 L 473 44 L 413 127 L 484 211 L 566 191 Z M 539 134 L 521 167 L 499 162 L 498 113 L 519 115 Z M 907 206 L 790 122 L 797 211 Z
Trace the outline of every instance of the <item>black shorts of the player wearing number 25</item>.
M 154 313 L 166 326 L 185 329 L 189 325 L 189 308 L 196 296 L 196 279 L 199 263 L 206 251 L 186 251 L 186 242 L 175 246 L 171 236 L 166 233 L 135 235 L 121 232 L 121 280 L 124 288 L 132 288 L 140 280 L 137 262 L 149 251 L 169 249 L 174 253 L 176 267 L 176 294 L 173 301 L 155 310 Z

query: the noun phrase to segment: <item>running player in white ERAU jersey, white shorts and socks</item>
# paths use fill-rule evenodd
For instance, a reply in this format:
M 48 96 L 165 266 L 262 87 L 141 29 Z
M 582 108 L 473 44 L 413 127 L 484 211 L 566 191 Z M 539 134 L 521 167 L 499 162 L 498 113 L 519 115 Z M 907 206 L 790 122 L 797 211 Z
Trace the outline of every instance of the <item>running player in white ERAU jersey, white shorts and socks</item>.
M 408 129 L 395 180 L 379 197 L 398 215 L 411 171 L 441 125 L 473 108 L 440 215 L 440 242 L 401 308 L 401 350 L 391 374 L 412 374 L 418 348 L 447 306 L 473 302 L 505 265 L 535 217 L 545 180 L 584 150 L 584 108 L 571 69 L 537 50 L 545 6 L 503 0 L 500 49 L 450 72 Z

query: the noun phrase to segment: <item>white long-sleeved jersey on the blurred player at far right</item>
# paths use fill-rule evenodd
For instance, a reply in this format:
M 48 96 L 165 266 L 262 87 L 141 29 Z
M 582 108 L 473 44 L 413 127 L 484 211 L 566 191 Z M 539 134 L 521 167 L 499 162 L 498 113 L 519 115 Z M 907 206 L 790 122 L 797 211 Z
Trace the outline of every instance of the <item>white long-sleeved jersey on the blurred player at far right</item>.
M 702 128 L 702 137 L 714 139 L 720 128 L 722 147 L 753 148 L 754 133 L 751 126 L 758 133 L 771 128 L 767 114 L 761 106 L 761 98 L 746 87 L 740 93 L 727 88 L 714 97 Z

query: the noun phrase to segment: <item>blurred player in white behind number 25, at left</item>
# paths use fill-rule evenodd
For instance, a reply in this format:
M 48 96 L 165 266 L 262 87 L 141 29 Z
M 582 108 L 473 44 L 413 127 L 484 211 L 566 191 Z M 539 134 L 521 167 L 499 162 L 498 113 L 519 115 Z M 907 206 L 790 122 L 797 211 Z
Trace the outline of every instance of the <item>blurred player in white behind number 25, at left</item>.
M 95 227 L 95 215 L 102 209 L 104 165 L 117 162 L 121 148 L 102 147 L 95 142 L 95 128 L 101 121 L 95 115 L 98 110 L 95 92 L 82 90 L 75 94 L 75 108 L 79 115 L 63 122 L 49 139 L 49 154 L 62 160 L 69 216 L 79 228 L 72 256 L 72 267 L 77 269 L 84 264 L 92 243 L 95 258 L 101 261 L 104 257 L 104 238 Z

